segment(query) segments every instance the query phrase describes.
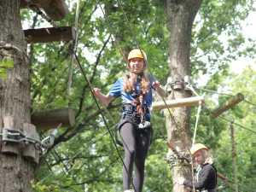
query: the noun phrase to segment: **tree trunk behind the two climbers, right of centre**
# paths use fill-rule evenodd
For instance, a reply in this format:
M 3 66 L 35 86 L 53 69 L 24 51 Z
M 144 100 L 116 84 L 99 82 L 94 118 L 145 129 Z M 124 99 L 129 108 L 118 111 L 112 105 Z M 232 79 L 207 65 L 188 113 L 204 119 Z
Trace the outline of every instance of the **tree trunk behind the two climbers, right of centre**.
M 189 49 L 191 40 L 191 31 L 195 15 L 197 14 L 201 0 L 162 0 L 166 10 L 167 29 L 170 32 L 170 59 L 171 59 L 171 77 L 180 75 L 182 79 L 190 75 L 189 70 Z M 191 92 L 184 90 L 172 90 L 168 99 L 180 99 L 191 96 Z M 187 151 L 186 146 L 191 147 L 189 136 L 190 108 L 174 108 L 172 115 L 175 122 L 168 116 L 166 118 L 166 130 L 168 140 L 177 146 L 178 151 Z M 183 185 L 175 184 L 179 177 L 192 179 L 191 166 L 183 160 L 174 162 L 172 168 L 173 191 L 183 191 Z

